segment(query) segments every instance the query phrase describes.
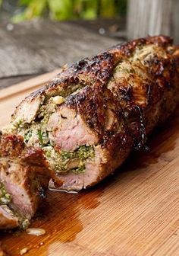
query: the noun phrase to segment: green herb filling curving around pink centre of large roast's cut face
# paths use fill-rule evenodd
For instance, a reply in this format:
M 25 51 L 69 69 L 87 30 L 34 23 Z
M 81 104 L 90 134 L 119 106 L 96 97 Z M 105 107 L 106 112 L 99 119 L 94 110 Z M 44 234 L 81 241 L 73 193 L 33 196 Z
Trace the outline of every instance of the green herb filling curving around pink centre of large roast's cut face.
M 46 126 L 49 117 L 55 110 L 56 104 L 54 103 L 53 97 L 51 97 L 46 104 L 40 105 L 38 115 L 31 123 L 24 123 L 23 120 L 18 120 L 13 124 L 14 129 L 17 130 L 17 133 L 24 136 L 24 142 L 27 145 L 40 147 L 45 152 L 50 168 L 55 170 L 56 173 L 68 171 L 76 174 L 83 173 L 87 159 L 94 158 L 95 156 L 94 148 L 93 146 L 83 145 L 79 146 L 73 152 L 54 149 Z

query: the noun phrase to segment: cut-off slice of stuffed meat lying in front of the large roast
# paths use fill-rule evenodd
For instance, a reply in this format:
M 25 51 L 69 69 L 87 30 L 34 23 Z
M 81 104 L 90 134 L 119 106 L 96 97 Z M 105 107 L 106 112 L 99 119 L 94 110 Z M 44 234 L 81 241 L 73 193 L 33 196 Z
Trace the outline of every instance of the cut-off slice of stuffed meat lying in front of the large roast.
M 26 147 L 21 136 L 0 136 L 0 229 L 29 225 L 49 178 L 42 150 Z

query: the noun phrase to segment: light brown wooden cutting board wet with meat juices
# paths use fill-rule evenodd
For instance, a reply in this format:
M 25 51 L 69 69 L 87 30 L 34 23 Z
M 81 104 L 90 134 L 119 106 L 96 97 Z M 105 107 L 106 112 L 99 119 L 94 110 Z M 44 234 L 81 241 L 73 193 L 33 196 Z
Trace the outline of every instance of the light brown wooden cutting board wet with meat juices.
M 0 126 L 30 91 L 59 70 L 0 91 Z M 32 226 L 39 237 L 1 232 L 11 255 L 179 255 L 179 107 L 114 175 L 79 194 L 49 191 Z

